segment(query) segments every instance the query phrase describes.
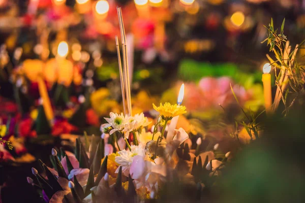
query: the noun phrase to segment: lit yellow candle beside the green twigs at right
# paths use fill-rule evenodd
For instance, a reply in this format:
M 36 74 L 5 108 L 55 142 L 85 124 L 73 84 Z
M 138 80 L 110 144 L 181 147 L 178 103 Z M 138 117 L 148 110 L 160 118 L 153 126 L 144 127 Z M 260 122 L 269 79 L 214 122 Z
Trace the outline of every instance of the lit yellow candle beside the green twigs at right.
M 263 66 L 263 86 L 264 86 L 264 99 L 265 99 L 265 109 L 266 112 L 270 112 L 270 107 L 272 104 L 272 96 L 271 96 L 271 65 L 270 63 L 266 63 Z

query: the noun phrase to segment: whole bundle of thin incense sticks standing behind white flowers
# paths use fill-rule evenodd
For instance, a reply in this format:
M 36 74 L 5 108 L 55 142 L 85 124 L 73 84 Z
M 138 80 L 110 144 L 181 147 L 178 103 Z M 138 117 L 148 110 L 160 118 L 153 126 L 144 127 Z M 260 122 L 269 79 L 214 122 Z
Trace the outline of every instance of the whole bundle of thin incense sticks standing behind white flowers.
M 122 68 L 120 51 L 119 51 L 119 46 L 118 46 L 118 39 L 117 39 L 117 36 L 115 36 L 119 76 L 120 76 L 120 83 L 121 83 L 121 92 L 122 92 L 123 106 L 124 106 L 124 114 L 125 115 L 128 114 L 131 116 L 132 109 L 131 109 L 129 68 L 128 68 L 127 40 L 126 40 L 125 27 L 124 27 L 121 8 L 117 7 L 116 10 L 117 10 L 118 23 L 119 23 L 119 29 L 120 29 L 120 34 L 121 34 L 121 42 L 122 42 L 122 52 L 123 52 L 123 68 Z

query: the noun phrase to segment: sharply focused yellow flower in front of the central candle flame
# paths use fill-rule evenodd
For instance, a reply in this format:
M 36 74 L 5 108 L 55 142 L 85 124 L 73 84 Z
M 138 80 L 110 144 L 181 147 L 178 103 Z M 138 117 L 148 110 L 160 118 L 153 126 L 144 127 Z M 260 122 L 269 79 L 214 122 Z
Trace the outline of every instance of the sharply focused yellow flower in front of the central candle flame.
M 161 114 L 164 120 L 171 120 L 175 116 L 180 116 L 182 114 L 187 113 L 185 106 L 179 106 L 176 104 L 171 105 L 167 102 L 164 105 L 160 103 L 159 107 L 156 107 L 156 105 L 153 104 L 153 107 Z

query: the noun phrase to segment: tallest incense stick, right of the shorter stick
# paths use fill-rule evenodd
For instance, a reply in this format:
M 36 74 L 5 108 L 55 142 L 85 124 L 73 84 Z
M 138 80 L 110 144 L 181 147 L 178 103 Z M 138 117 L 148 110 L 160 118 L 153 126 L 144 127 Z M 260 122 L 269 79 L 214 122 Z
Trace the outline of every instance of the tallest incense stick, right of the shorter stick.
M 127 44 L 126 44 L 126 34 L 125 27 L 123 22 L 122 11 L 120 7 L 117 7 L 117 15 L 119 28 L 121 33 L 122 49 L 123 49 L 123 63 L 124 63 L 124 78 L 125 78 L 125 88 L 126 88 L 126 97 L 127 97 L 127 107 L 129 115 L 132 115 L 131 109 L 131 90 L 130 90 L 130 79 L 129 79 L 129 70 L 128 70 L 128 54 L 127 54 Z

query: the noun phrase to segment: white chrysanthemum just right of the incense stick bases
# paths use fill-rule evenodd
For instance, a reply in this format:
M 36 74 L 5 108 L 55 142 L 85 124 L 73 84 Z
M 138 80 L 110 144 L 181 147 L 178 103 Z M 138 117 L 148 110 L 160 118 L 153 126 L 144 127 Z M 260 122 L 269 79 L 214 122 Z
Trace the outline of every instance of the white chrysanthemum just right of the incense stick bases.
M 126 122 L 124 128 L 125 138 L 129 138 L 129 133 L 139 130 L 142 127 L 149 125 L 149 121 L 147 117 L 144 116 L 143 113 L 136 114 L 134 116 L 129 117 L 128 122 Z

